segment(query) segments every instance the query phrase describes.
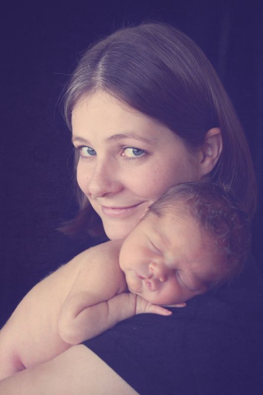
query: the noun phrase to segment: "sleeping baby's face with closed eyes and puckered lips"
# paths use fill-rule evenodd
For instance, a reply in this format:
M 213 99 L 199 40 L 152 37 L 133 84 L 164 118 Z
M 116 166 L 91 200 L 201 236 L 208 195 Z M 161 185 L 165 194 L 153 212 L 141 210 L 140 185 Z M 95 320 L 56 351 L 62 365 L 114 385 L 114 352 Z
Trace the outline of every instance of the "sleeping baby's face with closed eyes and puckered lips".
M 124 240 L 120 268 L 128 288 L 149 302 L 174 305 L 204 293 L 218 276 L 218 265 L 204 242 L 198 223 L 189 215 L 162 218 L 148 214 Z

